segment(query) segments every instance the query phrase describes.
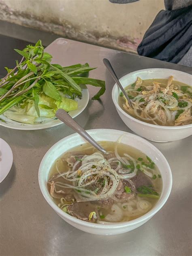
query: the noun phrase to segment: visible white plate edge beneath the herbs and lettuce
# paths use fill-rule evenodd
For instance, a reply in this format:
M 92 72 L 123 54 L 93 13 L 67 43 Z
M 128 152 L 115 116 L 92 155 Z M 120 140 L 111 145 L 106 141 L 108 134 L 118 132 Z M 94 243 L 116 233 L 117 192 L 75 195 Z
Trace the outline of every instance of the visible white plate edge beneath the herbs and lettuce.
M 86 86 L 85 89 L 82 90 L 82 99 L 76 99 L 78 102 L 78 109 L 69 111 L 69 114 L 71 117 L 76 117 L 77 115 L 81 114 L 81 112 L 87 107 L 87 104 L 89 102 L 89 92 Z M 38 118 L 38 122 L 35 124 L 23 124 L 19 123 L 16 121 L 13 121 L 7 117 L 5 117 L 3 114 L 0 115 L 0 125 L 7 127 L 7 128 L 12 128 L 16 130 L 40 130 L 40 129 L 45 129 L 45 128 L 50 128 L 53 126 L 58 126 L 60 124 L 63 124 L 62 121 L 57 119 L 57 117 L 53 118 L 45 118 L 41 117 Z

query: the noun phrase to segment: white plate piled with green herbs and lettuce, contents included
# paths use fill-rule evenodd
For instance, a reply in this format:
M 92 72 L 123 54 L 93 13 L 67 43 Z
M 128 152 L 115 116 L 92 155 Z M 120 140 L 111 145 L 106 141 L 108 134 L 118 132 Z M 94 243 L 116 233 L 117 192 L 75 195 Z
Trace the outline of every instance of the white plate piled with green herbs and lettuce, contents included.
M 13 69 L 0 79 L 0 125 L 18 130 L 38 130 L 62 124 L 55 117 L 64 109 L 72 117 L 87 106 L 86 85 L 100 87 L 92 100 L 105 92 L 105 81 L 87 74 L 95 69 L 85 64 L 61 66 L 52 64 L 52 56 L 44 51 L 41 40 L 34 46 L 17 50 L 22 56 Z

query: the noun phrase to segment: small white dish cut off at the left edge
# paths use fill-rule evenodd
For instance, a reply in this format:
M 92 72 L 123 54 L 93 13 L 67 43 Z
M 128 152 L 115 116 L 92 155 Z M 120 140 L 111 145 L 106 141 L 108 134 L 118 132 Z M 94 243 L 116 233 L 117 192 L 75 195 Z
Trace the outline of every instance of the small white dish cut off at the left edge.
M 13 152 L 9 144 L 0 138 L 0 183 L 6 178 L 13 164 Z

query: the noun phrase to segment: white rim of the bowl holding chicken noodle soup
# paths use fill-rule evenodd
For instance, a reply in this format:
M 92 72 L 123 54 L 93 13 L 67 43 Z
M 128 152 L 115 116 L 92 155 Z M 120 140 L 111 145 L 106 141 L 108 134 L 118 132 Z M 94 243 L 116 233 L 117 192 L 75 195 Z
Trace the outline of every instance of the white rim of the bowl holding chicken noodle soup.
M 178 73 L 182 73 L 182 74 L 185 74 L 185 75 L 188 75 L 188 76 L 192 76 L 190 75 L 189 73 L 185 73 L 183 71 L 179 71 L 179 70 L 175 70 L 175 69 L 170 69 L 170 68 L 145 68 L 145 69 L 139 69 L 139 70 L 135 70 L 133 72 L 130 72 L 126 75 L 124 75 L 123 77 L 121 77 L 119 79 L 119 81 L 121 82 L 121 79 L 125 78 L 125 77 L 129 77 L 131 75 L 134 75 L 135 73 L 138 73 L 138 72 L 141 72 L 141 71 L 149 71 L 149 70 L 154 70 L 154 71 L 159 71 L 159 70 L 170 70 L 170 72 L 178 72 Z M 189 85 L 191 86 L 191 85 Z M 175 129 L 175 130 L 181 130 L 181 129 L 185 129 L 185 128 L 188 128 L 188 127 L 192 127 L 192 124 L 186 124 L 186 125 L 183 125 L 183 126 L 162 126 L 162 125 L 157 125 L 157 124 L 149 124 L 147 122 L 144 122 L 144 121 L 141 121 L 135 117 L 132 117 L 131 115 L 129 115 L 126 111 L 124 111 L 120 106 L 119 106 L 119 103 L 118 101 L 116 100 L 116 90 L 118 90 L 118 86 L 117 86 L 117 83 L 115 83 L 113 85 L 113 89 L 112 89 L 112 100 L 113 100 L 113 104 L 115 105 L 115 107 L 122 113 L 124 114 L 126 117 L 130 118 L 131 120 L 139 123 L 139 124 L 143 124 L 145 126 L 149 126 L 149 127 L 156 127 L 156 128 L 161 128 L 161 129 L 167 129 L 167 130 L 170 130 L 170 129 Z

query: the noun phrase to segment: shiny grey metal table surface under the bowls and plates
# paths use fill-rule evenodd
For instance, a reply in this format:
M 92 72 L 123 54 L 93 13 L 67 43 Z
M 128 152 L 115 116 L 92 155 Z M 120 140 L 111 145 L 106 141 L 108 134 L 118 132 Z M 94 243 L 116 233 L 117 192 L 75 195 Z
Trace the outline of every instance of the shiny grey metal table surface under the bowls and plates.
M 15 47 L 14 47 L 15 48 Z M 132 132 L 118 116 L 111 99 L 113 79 L 102 63 L 109 58 L 119 77 L 142 68 L 191 69 L 76 41 L 58 39 L 47 47 L 53 62 L 88 62 L 98 67 L 92 77 L 104 79 L 100 101 L 90 100 L 76 121 L 85 129 L 112 128 Z M 171 75 L 171 74 L 170 74 Z M 98 88 L 88 87 L 90 96 Z M 38 167 L 46 151 L 73 130 L 62 124 L 46 130 L 22 131 L 0 126 L 0 137 L 13 150 L 13 166 L 0 184 L 0 255 L 2 256 L 172 256 L 191 255 L 192 140 L 152 142 L 168 160 L 173 188 L 167 203 L 143 226 L 117 236 L 84 233 L 62 220 L 46 203 L 38 186 Z

